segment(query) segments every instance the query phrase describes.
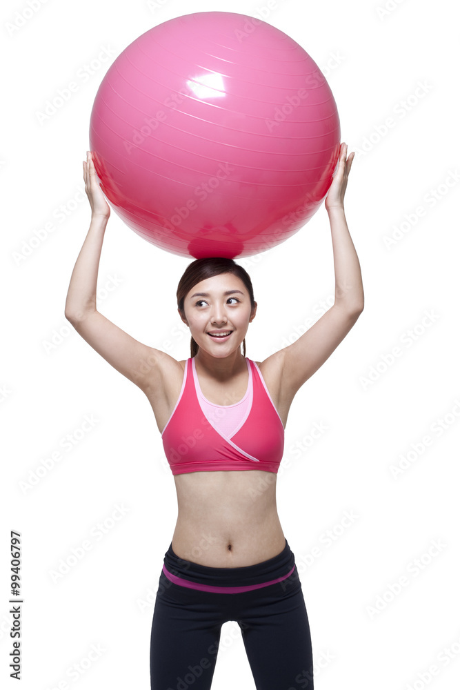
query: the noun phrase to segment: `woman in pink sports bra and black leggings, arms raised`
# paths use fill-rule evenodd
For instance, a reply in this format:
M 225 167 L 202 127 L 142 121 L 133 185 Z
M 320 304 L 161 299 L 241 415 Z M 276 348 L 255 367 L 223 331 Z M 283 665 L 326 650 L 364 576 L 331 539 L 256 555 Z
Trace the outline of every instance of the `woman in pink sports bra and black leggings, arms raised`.
M 341 144 L 325 202 L 334 304 L 263 362 L 246 357 L 257 302 L 246 270 L 232 259 L 192 262 L 179 282 L 178 311 L 192 336 L 186 360 L 141 344 L 97 311 L 110 208 L 90 152 L 83 162 L 92 218 L 70 280 L 66 317 L 146 393 L 177 489 L 177 524 L 152 621 L 152 690 L 208 690 L 228 620 L 241 628 L 257 689 L 313 688 L 306 605 L 275 488 L 292 399 L 363 311 L 361 270 L 343 210 L 353 157 L 347 159 Z

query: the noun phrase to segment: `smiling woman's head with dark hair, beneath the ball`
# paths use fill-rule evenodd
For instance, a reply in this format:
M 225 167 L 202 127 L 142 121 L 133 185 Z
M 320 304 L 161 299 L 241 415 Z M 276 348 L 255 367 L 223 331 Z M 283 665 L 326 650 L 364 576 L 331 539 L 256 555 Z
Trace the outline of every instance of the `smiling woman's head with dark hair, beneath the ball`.
M 199 293 L 199 294 L 197 294 Z M 190 354 L 199 347 L 214 357 L 227 357 L 243 343 L 257 310 L 251 279 L 233 259 L 210 257 L 189 264 L 177 287 L 177 309 L 190 328 Z M 211 332 L 232 331 L 219 342 Z

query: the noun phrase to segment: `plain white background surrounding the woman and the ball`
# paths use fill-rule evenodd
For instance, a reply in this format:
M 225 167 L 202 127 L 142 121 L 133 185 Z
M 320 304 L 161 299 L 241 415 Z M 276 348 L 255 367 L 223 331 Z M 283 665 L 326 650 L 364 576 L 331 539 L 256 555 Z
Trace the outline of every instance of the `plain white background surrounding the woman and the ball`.
M 23 550 L 21 687 L 150 687 L 154 593 L 177 517 L 174 481 L 148 400 L 73 331 L 64 304 L 90 222 L 81 161 L 99 83 L 152 26 L 219 9 L 263 16 L 310 53 L 337 101 L 341 138 L 357 151 L 346 216 L 366 306 L 295 397 L 277 480 L 279 516 L 310 620 L 315 687 L 458 687 L 460 151 L 452 3 L 30 3 L 34 11 L 24 0 L 4 3 L 0 29 L 1 677 L 10 672 L 9 540 L 16 530 Z M 111 57 L 98 66 L 92 61 L 103 49 Z M 82 71 L 84 80 L 77 78 Z M 75 80 L 77 92 L 40 123 L 46 101 Z M 389 117 L 394 126 L 386 130 Z M 64 221 L 57 219 L 61 204 Z M 54 230 L 26 255 L 49 223 Z M 397 228 L 400 239 L 387 246 Z M 175 292 L 188 263 L 112 213 L 99 311 L 163 348 L 181 326 Z M 286 345 L 283 339 L 298 337 L 308 319 L 316 321 L 321 304 L 332 304 L 326 210 L 321 206 L 288 242 L 240 263 L 259 302 L 247 356 L 261 361 Z M 391 359 L 394 348 L 399 356 Z M 170 354 L 189 353 L 184 333 Z M 92 430 L 64 450 L 61 440 L 79 436 L 86 416 Z M 314 440 L 315 424 L 327 430 Z M 56 451 L 61 460 L 43 470 Z M 392 466 L 408 455 L 395 476 Z M 111 521 L 117 506 L 126 513 Z M 354 515 L 351 523 L 346 513 Z M 95 531 L 105 521 L 111 529 L 99 539 Z M 72 562 L 72 549 L 85 540 L 91 549 L 55 581 L 52 572 L 61 560 Z M 92 645 L 103 651 L 88 662 Z M 85 672 L 70 677 L 74 664 Z M 9 680 L 8 687 L 17 685 Z M 212 687 L 254 687 L 236 622 L 222 629 Z

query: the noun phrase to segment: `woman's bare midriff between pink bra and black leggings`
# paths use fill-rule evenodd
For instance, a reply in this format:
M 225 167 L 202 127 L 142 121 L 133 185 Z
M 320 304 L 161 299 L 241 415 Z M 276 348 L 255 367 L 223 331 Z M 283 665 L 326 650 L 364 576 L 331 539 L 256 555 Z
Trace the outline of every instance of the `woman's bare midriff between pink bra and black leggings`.
M 178 516 L 172 551 L 211 568 L 273 558 L 286 546 L 276 501 L 277 475 L 261 470 L 174 475 Z

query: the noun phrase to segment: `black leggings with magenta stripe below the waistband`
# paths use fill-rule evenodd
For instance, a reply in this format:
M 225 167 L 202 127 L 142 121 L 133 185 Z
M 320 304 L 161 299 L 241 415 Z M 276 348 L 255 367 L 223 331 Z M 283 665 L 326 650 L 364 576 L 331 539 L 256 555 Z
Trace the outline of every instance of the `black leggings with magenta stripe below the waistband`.
M 239 568 L 183 560 L 170 546 L 164 568 L 168 576 L 161 571 L 150 638 L 151 690 L 209 690 L 228 620 L 239 624 L 257 690 L 313 690 L 310 625 L 287 540 L 274 558 Z M 211 591 L 178 584 L 178 578 Z M 212 591 L 272 580 L 279 581 L 249 591 Z

